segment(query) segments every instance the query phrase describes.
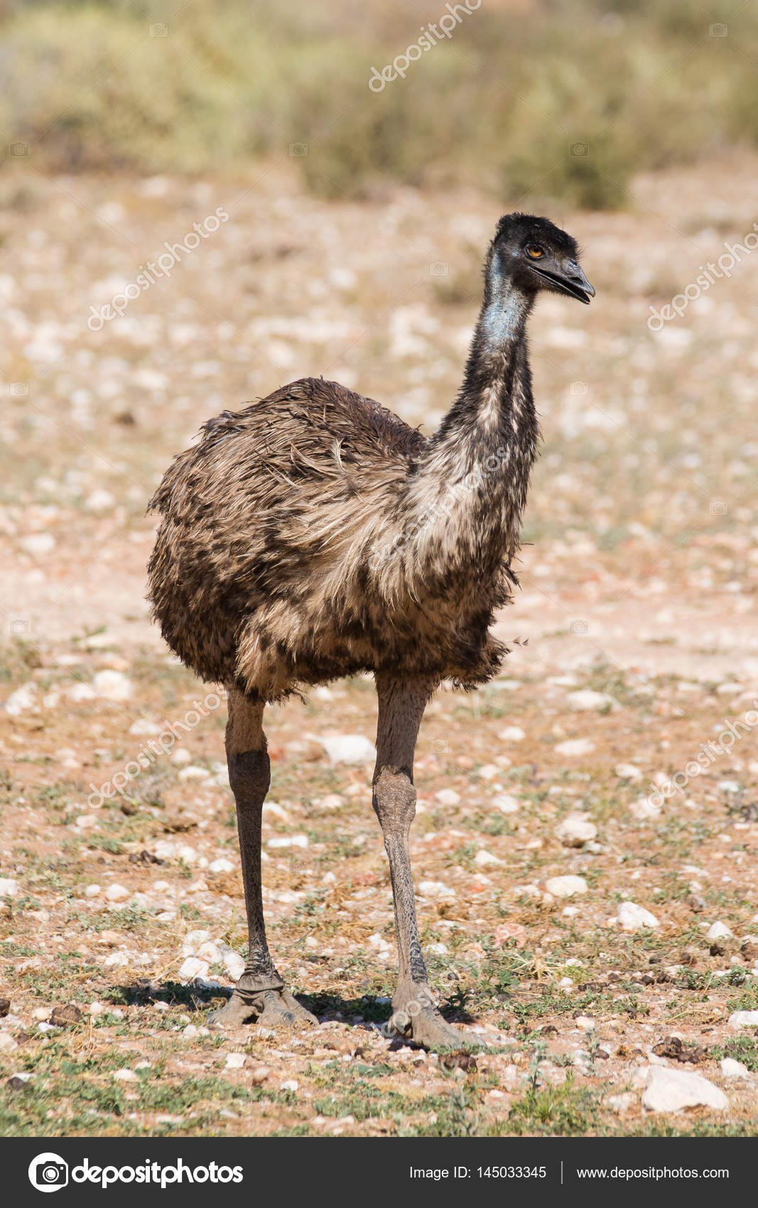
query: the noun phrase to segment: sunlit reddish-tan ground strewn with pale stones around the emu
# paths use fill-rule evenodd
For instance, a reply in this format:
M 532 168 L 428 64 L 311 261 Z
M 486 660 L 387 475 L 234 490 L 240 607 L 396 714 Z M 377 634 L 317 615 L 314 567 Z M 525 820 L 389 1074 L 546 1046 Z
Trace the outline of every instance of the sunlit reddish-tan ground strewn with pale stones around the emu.
M 245 945 L 226 710 L 148 625 L 144 511 L 200 422 L 303 373 L 432 428 L 491 204 L 4 178 L 5 1133 L 754 1132 L 750 257 L 647 326 L 751 231 L 751 170 L 554 214 L 597 298 L 535 316 L 546 446 L 500 622 L 513 654 L 480 692 L 439 693 L 416 765 L 424 942 L 444 1014 L 488 1044 L 473 1061 L 381 1032 L 396 952 L 368 680 L 267 722 L 269 937 L 320 1026 L 206 1028 Z M 218 207 L 229 220 L 170 277 L 88 327 Z

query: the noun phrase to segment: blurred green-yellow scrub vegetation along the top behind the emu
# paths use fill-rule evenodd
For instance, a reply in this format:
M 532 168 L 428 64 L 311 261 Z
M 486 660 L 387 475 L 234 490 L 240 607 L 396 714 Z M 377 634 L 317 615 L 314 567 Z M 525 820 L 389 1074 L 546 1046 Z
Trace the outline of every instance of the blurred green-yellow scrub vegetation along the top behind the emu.
M 718 0 L 717 0 L 718 2 Z M 731 12 L 729 12 L 731 8 Z M 0 0 L 4 155 L 190 175 L 290 156 L 387 182 L 623 205 L 630 175 L 758 141 L 758 5 L 482 0 L 374 93 L 443 0 Z

